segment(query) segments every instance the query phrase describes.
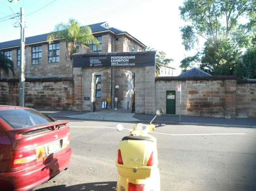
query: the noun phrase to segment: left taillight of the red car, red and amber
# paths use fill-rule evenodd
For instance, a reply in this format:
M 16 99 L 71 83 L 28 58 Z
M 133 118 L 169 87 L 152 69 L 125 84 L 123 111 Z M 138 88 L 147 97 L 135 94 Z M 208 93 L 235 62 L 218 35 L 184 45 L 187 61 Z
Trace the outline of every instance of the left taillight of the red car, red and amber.
M 35 148 L 21 151 L 12 151 L 9 168 L 22 167 L 33 162 L 36 162 Z

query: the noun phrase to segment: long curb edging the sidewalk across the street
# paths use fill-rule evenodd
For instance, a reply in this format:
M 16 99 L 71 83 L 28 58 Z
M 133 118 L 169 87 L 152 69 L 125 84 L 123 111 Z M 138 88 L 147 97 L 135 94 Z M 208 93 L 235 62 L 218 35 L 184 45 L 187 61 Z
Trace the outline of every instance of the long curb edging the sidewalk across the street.
M 150 123 L 150 121 L 113 121 L 113 120 L 95 120 L 95 119 L 78 119 L 72 117 L 63 117 L 63 116 L 51 116 L 53 118 L 64 118 L 64 119 L 77 119 L 83 121 L 107 121 L 107 122 L 120 122 L 120 123 Z M 212 123 L 185 123 L 185 122 L 169 122 L 169 121 L 153 121 L 153 123 L 164 123 L 164 124 L 172 124 L 172 125 L 197 125 L 197 126 L 211 126 L 211 127 L 230 127 L 230 128 L 255 128 L 256 126 L 251 125 L 229 125 L 229 124 L 212 124 Z

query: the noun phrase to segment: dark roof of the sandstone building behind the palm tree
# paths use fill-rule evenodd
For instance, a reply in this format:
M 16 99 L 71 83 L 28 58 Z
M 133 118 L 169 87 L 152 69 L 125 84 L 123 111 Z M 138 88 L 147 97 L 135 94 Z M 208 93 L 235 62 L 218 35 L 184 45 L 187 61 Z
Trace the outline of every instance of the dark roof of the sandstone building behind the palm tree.
M 102 26 L 104 23 L 106 22 L 100 22 L 100 23 L 96 23 L 96 24 L 90 24 L 88 25 L 88 27 L 91 28 L 92 32 L 98 32 L 98 31 L 104 31 L 104 30 L 112 30 L 113 32 L 117 33 L 122 33 L 125 31 L 116 29 L 114 27 L 112 28 L 107 28 Z M 127 33 L 127 32 L 126 32 Z M 37 36 L 33 36 L 33 37 L 27 37 L 25 39 L 25 43 L 29 44 L 29 43 L 34 43 L 34 42 L 41 42 L 41 41 L 46 41 L 47 40 L 47 36 L 50 33 L 46 33 L 46 34 L 40 34 Z M 127 33 L 129 34 L 129 33 Z M 130 35 L 130 34 L 129 34 Z M 131 35 L 130 35 L 131 36 Z M 131 36 L 132 37 L 132 36 Z M 134 37 L 133 37 L 134 38 Z M 134 38 L 136 39 L 136 38 Z M 138 39 L 136 39 L 137 41 L 139 41 Z M 140 41 L 139 41 L 140 42 Z M 141 44 L 143 44 L 142 42 L 140 42 Z M 144 44 L 143 44 L 144 45 Z M 1 48 L 8 48 L 8 47 L 15 47 L 15 46 L 20 46 L 20 39 L 17 40 L 11 40 L 11 41 L 6 41 L 6 42 L 0 42 L 0 49 Z M 145 45 L 144 45 L 145 46 Z M 146 46 L 145 46 L 146 47 Z

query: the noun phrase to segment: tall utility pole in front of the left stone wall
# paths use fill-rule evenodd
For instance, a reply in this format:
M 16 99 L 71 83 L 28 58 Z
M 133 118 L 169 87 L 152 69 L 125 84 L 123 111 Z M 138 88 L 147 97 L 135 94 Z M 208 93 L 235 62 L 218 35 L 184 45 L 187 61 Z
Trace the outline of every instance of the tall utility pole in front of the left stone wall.
M 24 87 L 25 87 L 25 38 L 24 38 L 24 30 L 25 30 L 25 21 L 24 21 L 24 8 L 20 8 L 20 77 L 19 77 L 19 106 L 24 107 Z

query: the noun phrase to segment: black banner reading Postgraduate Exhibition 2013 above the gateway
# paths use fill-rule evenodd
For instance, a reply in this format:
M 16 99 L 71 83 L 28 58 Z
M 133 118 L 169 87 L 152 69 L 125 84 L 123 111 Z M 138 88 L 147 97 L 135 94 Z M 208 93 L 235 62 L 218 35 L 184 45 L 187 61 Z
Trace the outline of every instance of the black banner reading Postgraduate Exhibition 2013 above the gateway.
M 73 68 L 110 66 L 155 66 L 155 54 L 135 56 L 73 57 Z

